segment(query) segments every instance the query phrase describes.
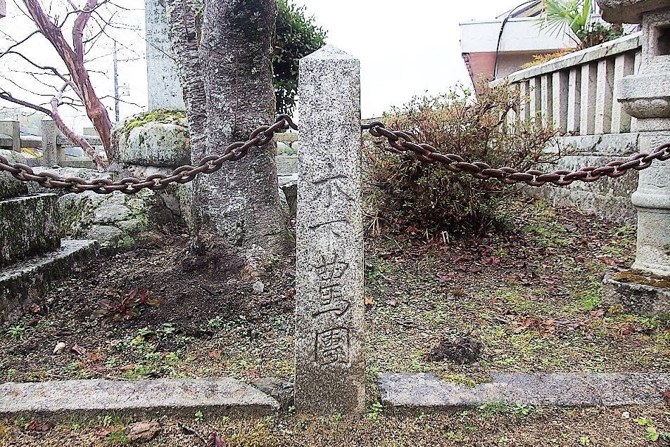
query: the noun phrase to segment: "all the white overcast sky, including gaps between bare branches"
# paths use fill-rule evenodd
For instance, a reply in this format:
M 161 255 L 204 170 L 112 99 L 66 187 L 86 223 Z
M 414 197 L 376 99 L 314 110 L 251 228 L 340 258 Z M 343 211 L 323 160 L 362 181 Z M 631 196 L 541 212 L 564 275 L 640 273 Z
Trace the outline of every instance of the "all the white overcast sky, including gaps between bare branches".
M 59 1 L 43 1 L 57 5 Z M 469 84 L 469 77 L 460 55 L 459 22 L 492 19 L 522 3 L 522 0 L 294 0 L 307 7 L 309 15 L 328 31 L 327 42 L 360 58 L 362 76 L 362 113 L 364 117 L 380 115 L 392 105 L 402 105 L 428 91 L 431 94 L 448 91 L 461 82 Z M 8 17 L 0 19 L 0 50 L 6 48 L 3 33 L 22 37 L 30 32 L 27 21 L 21 17 L 16 3 L 7 0 Z M 124 98 L 146 106 L 146 72 L 144 68 L 144 2 L 118 0 L 116 3 L 134 8 L 125 13 L 124 23 L 137 30 L 117 30 L 120 58 L 139 58 L 119 63 L 120 84 L 128 86 L 131 96 Z M 56 6 L 54 6 L 55 8 Z M 25 44 L 25 52 L 34 58 L 56 63 L 53 51 L 41 37 Z M 39 55 L 39 56 L 38 56 Z M 100 48 L 99 57 L 91 67 L 99 74 L 92 75 L 100 96 L 113 91 L 112 58 L 110 46 Z M 0 73 L 10 73 L 4 59 Z M 10 74 L 17 84 L 24 79 L 18 73 Z M 30 82 L 28 82 L 30 84 Z M 15 86 L 0 79 L 0 88 Z M 34 87 L 37 90 L 37 86 Z M 23 94 L 30 96 L 29 93 Z M 107 100 L 113 117 L 113 101 Z M 0 106 L 7 104 L 0 103 Z M 140 109 L 122 105 L 121 117 Z M 72 114 L 73 115 L 73 114 Z M 79 121 L 79 120 L 77 120 Z M 77 122 L 80 128 L 83 122 Z

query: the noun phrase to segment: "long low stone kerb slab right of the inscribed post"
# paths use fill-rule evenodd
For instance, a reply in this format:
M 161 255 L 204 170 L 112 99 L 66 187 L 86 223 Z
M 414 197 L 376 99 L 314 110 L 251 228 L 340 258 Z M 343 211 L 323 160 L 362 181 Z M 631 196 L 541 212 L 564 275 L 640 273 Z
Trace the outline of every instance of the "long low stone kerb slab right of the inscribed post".
M 382 399 L 405 410 L 446 410 L 485 403 L 533 406 L 633 406 L 664 402 L 670 374 L 494 374 L 493 382 L 468 388 L 431 373 L 379 375 Z

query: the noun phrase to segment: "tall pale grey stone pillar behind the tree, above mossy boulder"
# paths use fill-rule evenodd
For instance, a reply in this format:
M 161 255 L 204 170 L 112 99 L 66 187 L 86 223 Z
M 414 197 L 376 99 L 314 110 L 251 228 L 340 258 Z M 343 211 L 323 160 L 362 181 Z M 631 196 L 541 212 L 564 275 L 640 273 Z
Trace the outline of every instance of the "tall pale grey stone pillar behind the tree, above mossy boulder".
M 165 0 L 145 0 L 146 20 L 146 88 L 148 109 L 185 110 L 177 65 L 167 34 Z

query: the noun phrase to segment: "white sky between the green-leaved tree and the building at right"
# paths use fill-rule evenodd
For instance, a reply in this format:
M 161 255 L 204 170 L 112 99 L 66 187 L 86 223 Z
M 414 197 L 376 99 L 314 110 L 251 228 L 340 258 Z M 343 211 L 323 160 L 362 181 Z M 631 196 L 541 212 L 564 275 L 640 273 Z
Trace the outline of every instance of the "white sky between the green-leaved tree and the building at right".
M 470 79 L 461 58 L 459 22 L 493 19 L 522 0 L 296 0 L 328 43 L 361 61 L 364 117 L 428 91 L 445 93 Z

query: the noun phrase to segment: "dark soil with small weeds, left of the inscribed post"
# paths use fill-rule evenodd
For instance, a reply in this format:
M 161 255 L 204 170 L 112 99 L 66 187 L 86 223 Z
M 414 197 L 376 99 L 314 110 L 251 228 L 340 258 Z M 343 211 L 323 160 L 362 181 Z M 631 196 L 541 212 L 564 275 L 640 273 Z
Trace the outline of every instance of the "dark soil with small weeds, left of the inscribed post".
M 290 260 L 251 276 L 211 250 L 202 259 L 190 257 L 188 243 L 177 231 L 158 244 L 101 254 L 51 290 L 29 320 L 14 326 L 25 326 L 23 336 L 10 330 L 0 338 L 5 360 L 0 370 L 13 380 L 160 377 L 186 374 L 175 367 L 204 356 L 204 363 L 213 363 L 212 373 L 222 372 L 216 365 L 225 351 L 217 351 L 216 342 L 226 332 L 251 340 L 261 336 L 268 320 L 289 320 L 294 307 Z M 264 283 L 263 293 L 253 292 L 257 281 Z M 93 316 L 99 300 L 139 289 L 163 304 L 139 305 L 139 315 L 128 320 Z M 54 355 L 59 342 L 66 348 Z

